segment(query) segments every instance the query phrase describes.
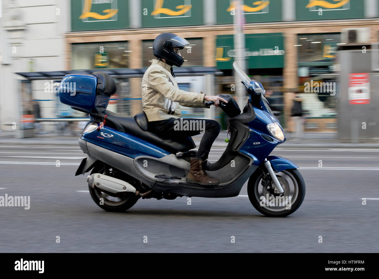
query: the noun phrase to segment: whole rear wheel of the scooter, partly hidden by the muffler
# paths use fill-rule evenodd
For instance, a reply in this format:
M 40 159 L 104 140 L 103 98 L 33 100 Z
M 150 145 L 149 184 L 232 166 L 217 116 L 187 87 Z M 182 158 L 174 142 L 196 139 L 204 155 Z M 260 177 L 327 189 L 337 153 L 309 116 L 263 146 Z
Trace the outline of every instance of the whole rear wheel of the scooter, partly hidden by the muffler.
M 108 175 L 110 177 L 115 177 L 124 181 L 127 181 L 128 183 L 132 184 L 136 189 L 138 190 L 137 184 L 138 181 L 133 180 L 132 177 L 126 175 L 123 172 L 120 172 L 116 169 L 109 168 L 109 166 L 105 166 L 103 164 L 99 164 L 94 167 L 92 170 L 92 173 L 101 173 Z M 88 185 L 89 194 L 91 194 L 92 200 L 100 206 L 102 209 L 106 211 L 111 212 L 122 212 L 126 211 L 129 208 L 131 208 L 133 205 L 136 204 L 139 197 L 135 195 L 135 193 L 128 193 L 127 197 L 119 198 L 119 197 L 112 197 L 111 195 L 104 193 L 98 189 L 94 189 L 91 186 Z

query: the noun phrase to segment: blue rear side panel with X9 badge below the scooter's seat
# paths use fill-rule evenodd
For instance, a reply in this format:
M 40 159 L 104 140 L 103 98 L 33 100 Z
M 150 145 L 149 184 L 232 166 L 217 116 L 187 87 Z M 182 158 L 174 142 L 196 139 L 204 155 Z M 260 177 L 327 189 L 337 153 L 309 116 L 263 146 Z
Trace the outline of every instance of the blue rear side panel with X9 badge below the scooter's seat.
M 104 126 L 99 131 L 85 133 L 81 139 L 130 158 L 144 155 L 162 158 L 171 154 L 144 139 L 126 132 L 119 132 L 108 126 Z

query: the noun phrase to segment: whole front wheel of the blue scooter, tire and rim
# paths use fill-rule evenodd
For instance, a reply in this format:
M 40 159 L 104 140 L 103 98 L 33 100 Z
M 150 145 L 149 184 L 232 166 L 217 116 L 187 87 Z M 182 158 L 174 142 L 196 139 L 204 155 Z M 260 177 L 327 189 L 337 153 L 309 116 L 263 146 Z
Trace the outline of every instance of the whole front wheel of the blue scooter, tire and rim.
M 251 204 L 260 213 L 270 217 L 284 217 L 294 213 L 304 200 L 305 182 L 297 169 L 276 173 L 284 192 L 274 189 L 273 181 L 266 170 L 254 172 L 247 184 Z

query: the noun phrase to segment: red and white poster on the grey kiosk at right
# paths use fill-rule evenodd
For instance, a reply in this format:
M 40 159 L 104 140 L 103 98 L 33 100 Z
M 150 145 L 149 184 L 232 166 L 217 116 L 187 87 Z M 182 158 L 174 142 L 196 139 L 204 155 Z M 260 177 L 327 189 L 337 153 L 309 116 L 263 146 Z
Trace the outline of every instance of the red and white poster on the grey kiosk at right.
M 349 74 L 349 104 L 370 104 L 368 73 Z

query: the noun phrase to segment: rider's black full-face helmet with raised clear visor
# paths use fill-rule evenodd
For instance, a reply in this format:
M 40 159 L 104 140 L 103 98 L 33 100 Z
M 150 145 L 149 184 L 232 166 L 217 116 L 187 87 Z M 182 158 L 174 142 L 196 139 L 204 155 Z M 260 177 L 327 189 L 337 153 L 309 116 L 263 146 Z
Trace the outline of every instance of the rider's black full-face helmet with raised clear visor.
M 186 39 L 174 33 L 162 33 L 153 42 L 153 54 L 157 58 L 165 59 L 170 66 L 180 67 L 183 65 L 184 59 L 179 51 L 174 51 L 174 48 L 183 49 L 187 46 L 189 46 L 189 43 Z

